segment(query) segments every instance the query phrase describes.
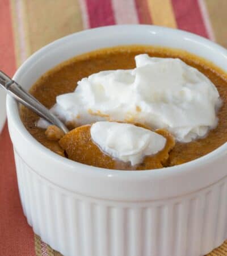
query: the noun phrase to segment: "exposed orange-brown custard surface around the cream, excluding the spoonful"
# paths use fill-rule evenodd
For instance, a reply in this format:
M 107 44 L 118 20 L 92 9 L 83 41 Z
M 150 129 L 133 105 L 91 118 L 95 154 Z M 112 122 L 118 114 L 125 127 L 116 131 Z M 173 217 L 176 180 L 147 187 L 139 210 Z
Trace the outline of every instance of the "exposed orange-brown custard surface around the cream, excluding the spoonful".
M 83 77 L 108 69 L 132 69 L 135 67 L 134 56 L 141 53 L 148 53 L 154 57 L 178 57 L 188 65 L 199 69 L 215 84 L 223 102 L 218 111 L 219 121 L 216 129 L 209 131 L 207 137 L 190 143 L 176 142 L 169 153 L 169 159 L 165 162 L 165 167 L 189 162 L 224 144 L 227 141 L 227 76 L 212 63 L 185 51 L 152 46 L 124 46 L 86 53 L 45 73 L 32 86 L 30 93 L 47 108 L 51 108 L 56 102 L 56 96 L 73 92 L 77 81 Z M 64 150 L 58 142 L 49 141 L 45 136 L 45 130 L 36 127 L 39 117 L 35 113 L 22 107 L 20 116 L 27 130 L 37 141 L 57 154 L 64 155 Z M 79 159 L 77 160 L 80 162 Z M 102 167 L 109 168 L 109 164 L 107 161 Z

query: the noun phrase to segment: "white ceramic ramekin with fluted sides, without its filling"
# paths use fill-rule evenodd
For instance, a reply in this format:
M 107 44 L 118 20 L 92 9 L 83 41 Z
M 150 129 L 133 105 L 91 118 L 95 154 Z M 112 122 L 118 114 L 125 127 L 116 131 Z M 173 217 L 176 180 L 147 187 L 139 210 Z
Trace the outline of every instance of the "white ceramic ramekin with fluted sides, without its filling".
M 185 49 L 227 70 L 227 51 L 169 28 L 95 28 L 45 46 L 16 72 L 28 89 L 45 71 L 103 47 Z M 28 223 L 44 242 L 74 256 L 200 256 L 227 238 L 227 144 L 192 162 L 154 171 L 113 171 L 62 158 L 38 143 L 7 96 L 18 185 Z

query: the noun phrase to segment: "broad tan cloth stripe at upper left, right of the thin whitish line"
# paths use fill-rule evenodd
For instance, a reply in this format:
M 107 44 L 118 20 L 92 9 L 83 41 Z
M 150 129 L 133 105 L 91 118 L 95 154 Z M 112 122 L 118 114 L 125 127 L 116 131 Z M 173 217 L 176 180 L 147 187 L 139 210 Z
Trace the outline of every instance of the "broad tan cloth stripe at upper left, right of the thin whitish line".
M 24 0 L 31 53 L 62 36 L 83 29 L 78 0 Z

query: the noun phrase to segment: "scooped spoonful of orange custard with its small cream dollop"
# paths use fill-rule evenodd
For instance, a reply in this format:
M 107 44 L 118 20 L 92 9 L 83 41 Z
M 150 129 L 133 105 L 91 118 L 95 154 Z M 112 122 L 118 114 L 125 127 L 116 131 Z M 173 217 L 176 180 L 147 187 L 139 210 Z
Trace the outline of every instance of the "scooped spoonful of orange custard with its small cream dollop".
M 100 124 L 104 125 L 104 123 L 105 125 L 106 124 L 109 125 L 106 131 L 108 129 L 110 130 L 111 126 L 113 125 L 116 126 L 116 124 L 118 124 L 117 125 L 118 129 L 119 127 L 120 129 L 124 127 L 123 129 L 117 130 L 115 131 L 115 133 L 110 134 L 115 136 L 114 138 L 116 141 L 109 142 L 109 146 L 113 142 L 114 144 L 117 144 L 117 142 L 119 142 L 121 144 L 121 155 L 124 155 L 124 158 L 122 157 L 122 159 L 125 159 L 125 161 L 122 159 L 119 159 L 119 157 L 118 158 L 113 157 L 113 155 L 110 154 L 111 151 L 108 151 L 108 153 L 105 152 L 105 150 L 103 150 L 100 147 L 100 144 L 97 144 L 96 142 L 94 142 L 94 139 L 91 136 L 92 127 L 93 126 L 95 127 L 95 125 L 96 126 L 99 125 L 98 128 L 100 129 Z M 133 129 L 131 134 L 129 134 L 130 133 L 129 129 Z M 100 132 L 103 133 L 102 130 L 100 130 Z M 117 135 L 117 132 L 119 132 L 118 135 Z M 124 134 L 120 134 L 120 132 L 124 132 Z M 128 133 L 128 141 L 126 142 L 123 141 L 121 143 L 123 137 L 127 135 L 125 134 L 125 132 Z M 51 140 L 52 139 L 58 140 L 61 137 L 58 143 L 65 150 L 66 156 L 68 156 L 69 159 L 79 163 L 88 164 L 91 166 L 108 168 L 108 169 L 116 169 L 116 170 L 150 170 L 150 169 L 162 168 L 165 166 L 165 163 L 169 158 L 169 151 L 175 145 L 175 140 L 173 135 L 171 135 L 169 131 L 165 129 L 158 129 L 158 130 L 155 130 L 155 132 L 153 132 L 148 129 L 144 129 L 140 126 L 135 126 L 135 125 L 126 124 L 126 123 L 116 123 L 116 122 L 98 122 L 98 123 L 94 123 L 93 125 L 79 126 L 69 131 L 69 133 L 65 135 L 63 135 L 61 130 L 58 129 L 57 127 L 49 126 L 45 134 Z M 139 135 L 140 137 L 136 138 L 136 135 Z M 102 137 L 102 135 L 100 135 L 100 137 Z M 143 143 L 141 142 L 143 138 L 144 138 L 144 144 L 141 144 Z M 104 141 L 104 143 L 107 143 L 108 139 L 110 138 L 106 138 L 106 141 Z M 161 147 L 159 143 L 160 139 L 162 139 L 162 141 L 165 140 L 165 143 Z M 117 144 L 117 146 L 116 145 L 112 146 L 113 148 L 112 151 L 115 150 L 116 152 L 117 149 L 119 150 L 119 143 Z M 128 144 L 128 147 L 125 146 L 125 144 Z M 157 147 L 157 144 L 159 144 L 159 148 Z M 107 144 L 106 144 L 106 147 L 107 147 Z M 148 148 L 150 151 L 146 150 L 145 147 Z M 134 151 L 132 151 L 132 149 Z M 138 150 L 141 150 L 141 152 L 138 152 Z M 152 152 L 152 151 L 155 154 L 143 155 L 145 150 L 148 154 L 149 152 Z M 141 160 L 138 160 L 138 153 L 139 154 L 141 153 L 140 154 L 140 156 L 142 156 Z M 131 162 L 130 160 L 127 160 L 128 158 L 125 158 L 125 155 L 129 159 L 131 159 Z

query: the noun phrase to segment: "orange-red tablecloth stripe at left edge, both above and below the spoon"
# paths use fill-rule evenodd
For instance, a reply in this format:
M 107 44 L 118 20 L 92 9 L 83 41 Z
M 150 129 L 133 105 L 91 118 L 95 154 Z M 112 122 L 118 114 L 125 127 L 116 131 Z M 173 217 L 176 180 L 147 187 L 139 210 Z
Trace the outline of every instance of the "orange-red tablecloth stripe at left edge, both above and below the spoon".
M 12 76 L 16 65 L 9 0 L 0 1 L 0 17 L 0 67 Z M 0 145 L 0 254 L 32 256 L 35 255 L 33 232 L 20 204 L 7 125 L 0 135 Z

